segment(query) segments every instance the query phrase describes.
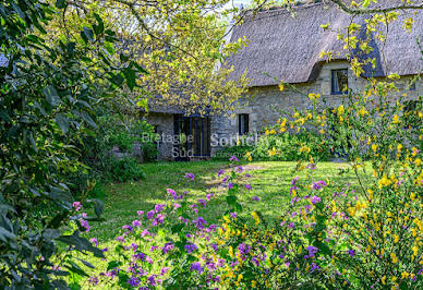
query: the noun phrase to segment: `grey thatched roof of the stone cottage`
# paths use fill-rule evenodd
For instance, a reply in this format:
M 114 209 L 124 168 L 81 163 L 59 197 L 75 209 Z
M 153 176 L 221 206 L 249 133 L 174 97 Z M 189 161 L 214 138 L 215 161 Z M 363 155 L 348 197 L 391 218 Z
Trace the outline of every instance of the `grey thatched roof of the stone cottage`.
M 411 34 L 408 34 L 402 24 L 403 20 L 410 16 L 415 23 Z M 346 59 L 343 43 L 337 39 L 337 33 L 324 31 L 321 25 L 330 23 L 331 29 L 341 29 L 350 22 L 351 15 L 335 4 L 327 3 L 297 7 L 295 17 L 286 9 L 250 14 L 241 25 L 233 27 L 231 36 L 231 41 L 245 36 L 247 47 L 232 56 L 227 65 L 234 67 L 233 77 L 246 70 L 251 86 L 275 85 L 279 81 L 312 82 L 324 61 L 319 59 L 323 50 L 340 52 L 339 56 L 334 56 L 335 60 Z M 355 16 L 354 22 L 365 26 L 364 16 Z M 362 37 L 365 37 L 365 32 Z M 418 74 L 423 70 L 423 61 L 416 37 L 423 41 L 423 13 L 401 15 L 397 22 L 389 25 L 385 46 L 378 40 L 372 41 L 374 51 L 366 58 L 376 58 L 378 68 L 374 71 L 370 67 L 365 68 L 363 76 Z

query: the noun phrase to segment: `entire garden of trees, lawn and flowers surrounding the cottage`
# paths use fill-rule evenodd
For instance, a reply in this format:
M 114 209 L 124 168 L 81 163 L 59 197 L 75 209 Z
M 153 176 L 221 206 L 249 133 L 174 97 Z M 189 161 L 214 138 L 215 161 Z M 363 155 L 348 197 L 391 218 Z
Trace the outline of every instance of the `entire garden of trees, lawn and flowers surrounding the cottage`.
M 242 14 L 227 2 L 0 3 L 1 289 L 423 288 L 423 100 L 407 105 L 398 74 L 334 108 L 309 92 L 228 158 L 160 161 L 140 137 L 160 101 L 225 112 L 246 92 L 216 71 L 246 45 L 222 43 Z M 367 31 L 422 7 L 330 2 Z M 345 29 L 347 51 L 368 49 Z M 359 77 L 372 61 L 353 56 Z

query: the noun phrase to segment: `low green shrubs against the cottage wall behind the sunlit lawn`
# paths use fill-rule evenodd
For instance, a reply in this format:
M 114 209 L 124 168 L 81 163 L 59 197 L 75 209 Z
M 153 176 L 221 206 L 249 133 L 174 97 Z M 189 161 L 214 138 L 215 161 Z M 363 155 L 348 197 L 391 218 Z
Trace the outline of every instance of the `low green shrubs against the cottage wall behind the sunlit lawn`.
M 322 135 L 313 132 L 279 132 L 278 128 L 279 125 L 266 129 L 266 134 L 261 136 L 255 144 L 245 142 L 249 136 L 241 137 L 237 145 L 223 148 L 217 154 L 217 157 L 234 155 L 250 160 L 298 161 L 305 156 L 304 152 L 299 149 L 310 148 L 312 155 L 318 160 L 328 160 L 329 147 Z

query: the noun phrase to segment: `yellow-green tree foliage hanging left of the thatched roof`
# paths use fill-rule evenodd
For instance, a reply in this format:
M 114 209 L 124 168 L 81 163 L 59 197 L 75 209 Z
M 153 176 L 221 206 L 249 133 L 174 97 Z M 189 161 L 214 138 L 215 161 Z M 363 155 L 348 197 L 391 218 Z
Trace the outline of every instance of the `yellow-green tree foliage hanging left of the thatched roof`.
M 245 39 L 226 41 L 228 22 L 238 12 L 229 2 L 67 1 L 49 33 L 53 39 L 78 34 L 87 19 L 97 13 L 106 28 L 119 32 L 122 57 L 149 72 L 132 77 L 134 90 L 122 89 L 119 95 L 144 108 L 148 104 L 153 108 L 179 107 L 188 114 L 227 112 L 247 83 L 244 76 L 228 80 L 232 68 L 222 65 L 245 45 Z

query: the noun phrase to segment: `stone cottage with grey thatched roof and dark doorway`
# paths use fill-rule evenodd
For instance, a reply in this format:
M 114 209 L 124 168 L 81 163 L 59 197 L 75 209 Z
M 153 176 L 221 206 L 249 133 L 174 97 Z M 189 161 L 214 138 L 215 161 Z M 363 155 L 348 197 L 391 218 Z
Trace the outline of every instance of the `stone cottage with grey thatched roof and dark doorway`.
M 402 25 L 410 16 L 414 19 L 414 25 L 408 33 Z M 401 78 L 397 87 L 401 94 L 407 93 L 410 99 L 422 96 L 423 83 L 415 81 L 415 76 L 423 70 L 416 41 L 418 38 L 423 40 L 423 13 L 399 16 L 389 25 L 385 43 L 372 39 L 373 51 L 370 55 L 361 56 L 359 50 L 352 52 L 360 58 L 375 58 L 377 62 L 375 70 L 367 67 L 360 77 L 351 71 L 342 49 L 343 43 L 337 39 L 335 32 L 350 22 L 351 15 L 335 4 L 324 2 L 297 7 L 294 17 L 286 9 L 246 14 L 243 23 L 231 29 L 230 41 L 246 37 L 247 46 L 232 56 L 226 65 L 233 65 L 234 77 L 247 72 L 251 80 L 249 93 L 240 100 L 238 109 L 229 112 L 230 117 L 186 117 L 178 110 L 149 113 L 148 121 L 156 125 L 157 133 L 190 136 L 183 144 L 159 141 L 160 158 L 213 156 L 220 148 L 216 146 L 216 140 L 261 132 L 266 125 L 276 123 L 281 109 L 306 109 L 310 101 L 304 95 L 319 93 L 335 107 L 346 97 L 342 88 L 360 89 L 371 76 L 385 77 L 398 73 Z M 354 22 L 365 27 L 365 16 L 354 17 Z M 322 28 L 321 25 L 327 23 L 330 23 L 331 29 Z M 360 37 L 365 37 L 365 31 Z M 334 52 L 330 62 L 321 58 L 323 50 Z M 281 81 L 294 85 L 295 90 L 281 92 L 278 87 Z M 190 157 L 178 156 L 180 148 L 190 152 Z

